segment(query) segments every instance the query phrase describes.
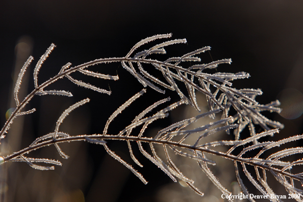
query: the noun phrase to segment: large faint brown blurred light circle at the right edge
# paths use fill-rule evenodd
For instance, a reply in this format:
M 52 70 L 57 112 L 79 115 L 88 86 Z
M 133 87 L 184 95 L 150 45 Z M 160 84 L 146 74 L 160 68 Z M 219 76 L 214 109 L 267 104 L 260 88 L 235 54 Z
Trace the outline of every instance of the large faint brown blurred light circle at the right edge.
M 295 119 L 303 113 L 303 94 L 293 88 L 284 89 L 278 95 L 282 108 L 281 116 L 287 119 Z

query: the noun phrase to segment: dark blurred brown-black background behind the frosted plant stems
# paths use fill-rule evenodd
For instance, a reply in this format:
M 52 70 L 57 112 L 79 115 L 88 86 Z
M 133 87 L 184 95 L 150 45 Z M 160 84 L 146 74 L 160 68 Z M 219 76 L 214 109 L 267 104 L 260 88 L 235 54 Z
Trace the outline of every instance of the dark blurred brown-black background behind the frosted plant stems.
M 15 107 L 12 89 L 20 68 L 30 55 L 35 58 L 22 83 L 20 92 L 23 95 L 20 97 L 24 97 L 33 90 L 34 64 L 51 43 L 57 47 L 42 65 L 39 83 L 53 77 L 67 62 L 79 65 L 97 58 L 123 57 L 143 38 L 172 33 L 173 39 L 186 38 L 187 43 L 166 48 L 168 56 L 181 56 L 211 46 L 210 53 L 200 55 L 202 60 L 233 60 L 231 65 L 220 65 L 217 71 L 250 73 L 251 78 L 235 81 L 234 87 L 262 89 L 264 94 L 257 97 L 261 104 L 280 99 L 284 109 L 282 114 L 268 116 L 284 123 L 285 129 L 277 134 L 279 137 L 272 139 L 302 134 L 302 9 L 302 2 L 288 0 L 0 1 L 0 123 L 5 123 L 6 116 Z M 143 88 L 118 63 L 96 68 L 100 73 L 119 75 L 117 82 L 92 81 L 100 88 L 111 89 L 112 95 L 92 92 L 66 79 L 58 81 L 49 90 L 68 90 L 74 96 L 35 97 L 27 109 L 36 108 L 37 112 L 15 119 L 6 142 L 0 145 L 2 156 L 54 131 L 60 114 L 86 97 L 91 98 L 91 102 L 74 110 L 60 129 L 71 135 L 101 133 L 111 113 Z M 147 89 L 146 94 L 147 98 L 143 96 L 136 109 L 121 114 L 114 123 L 122 128 L 112 127 L 110 132 L 119 132 L 123 129 L 123 122 L 134 118 L 130 117 L 132 113 L 142 111 L 144 107 L 140 108 L 140 102 L 153 104 L 158 100 L 152 89 Z M 173 117 L 158 127 L 190 116 L 186 108 L 182 110 L 172 113 Z M 115 143 L 110 146 L 122 159 L 132 162 L 127 145 Z M 168 176 L 144 157 L 138 157 L 144 167 L 135 168 L 145 176 L 149 182 L 147 185 L 106 155 L 101 146 L 77 142 L 62 147 L 70 159 L 62 160 L 63 166 L 56 167 L 55 171 L 34 170 L 26 163 L 4 164 L 1 168 L 2 200 L 222 201 L 220 192 L 213 193 L 208 184 L 207 190 L 201 188 L 209 193 L 203 198 L 196 197 L 189 188 L 183 189 L 182 184 L 171 184 Z M 31 155 L 60 159 L 52 146 Z M 198 176 L 197 180 L 206 182 L 206 176 L 200 173 L 203 176 Z M 226 176 L 226 173 L 219 174 Z M 225 179 L 230 191 L 237 189 L 231 183 L 236 181 L 233 176 Z

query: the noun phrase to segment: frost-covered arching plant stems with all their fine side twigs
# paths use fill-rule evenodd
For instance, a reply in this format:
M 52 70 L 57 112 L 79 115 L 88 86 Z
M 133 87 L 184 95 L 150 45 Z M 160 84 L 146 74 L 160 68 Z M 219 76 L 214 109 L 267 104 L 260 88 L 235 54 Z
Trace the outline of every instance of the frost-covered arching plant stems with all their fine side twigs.
M 216 162 L 211 158 L 213 155 L 231 160 L 234 163 L 236 170 L 235 176 L 244 194 L 250 193 L 250 190 L 246 188 L 247 183 L 250 182 L 262 195 L 279 195 L 274 193 L 268 184 L 267 176 L 270 174 L 289 194 L 299 194 L 299 197 L 295 198 L 297 201 L 303 201 L 303 190 L 301 188 L 303 186 L 303 172 L 298 171 L 300 170 L 298 168 L 303 164 L 303 160 L 298 158 L 288 161 L 289 156 L 297 157 L 299 156 L 297 154 L 303 153 L 303 147 L 283 148 L 278 151 L 274 150 L 274 148 L 280 147 L 283 144 L 287 145 L 287 143 L 299 141 L 303 136 L 297 135 L 278 141 L 263 141 L 263 137 L 273 136 L 279 133 L 279 129 L 283 128 L 283 124 L 270 120 L 262 114 L 263 111 L 280 113 L 281 109 L 277 107 L 280 105 L 279 101 L 276 100 L 269 104 L 262 105 L 255 99 L 257 95 L 262 94 L 260 89 L 236 89 L 232 87 L 234 80 L 248 78 L 248 73 L 222 73 L 217 71 L 215 73 L 207 73 L 206 71 L 217 68 L 219 64 L 230 64 L 232 62 L 231 59 L 222 59 L 207 64 L 200 63 L 200 58 L 197 55 L 210 50 L 209 46 L 197 49 L 181 57 L 171 57 L 164 61 L 153 59 L 155 54 L 166 54 L 164 49 L 166 46 L 186 43 L 186 39 L 169 40 L 168 38 L 171 36 L 171 34 L 163 34 L 143 39 L 135 44 L 125 57 L 96 59 L 74 67 L 71 66 L 71 63 L 67 63 L 62 66 L 61 70 L 53 78 L 40 84 L 38 81 L 39 70 L 43 62 L 55 48 L 55 45 L 51 44 L 34 68 L 34 90 L 22 99 L 19 97 L 18 92 L 22 84 L 23 75 L 34 59 L 31 56 L 20 70 L 13 93 L 16 109 L 12 112 L 0 131 L 0 140 L 4 139 L 6 135 L 9 135 L 10 125 L 17 116 L 31 114 L 36 111 L 35 108 L 28 111 L 23 110 L 34 96 L 49 94 L 72 96 L 71 92 L 64 90 L 45 90 L 45 87 L 59 79 L 67 78 L 78 86 L 110 95 L 110 90 L 102 89 L 73 78 L 72 73 L 78 71 L 88 77 L 114 81 L 119 80 L 118 75 L 107 75 L 88 70 L 88 67 L 92 65 L 114 62 L 120 63 L 125 70 L 138 80 L 139 85 L 142 85 L 143 89 L 130 97 L 118 109 L 113 110 L 114 112 L 108 118 L 103 132 L 91 135 L 72 135 L 60 130 L 60 125 L 73 110 L 90 102 L 89 98 L 85 98 L 68 107 L 60 115 L 53 132 L 37 138 L 26 148 L 9 154 L 6 157 L 0 157 L 0 162 L 2 164 L 9 161 L 26 162 L 35 169 L 55 169 L 55 166 L 62 165 L 59 160 L 30 158 L 27 157 L 27 154 L 41 147 L 54 145 L 60 156 L 67 159 L 68 155 L 61 149 L 60 143 L 87 141 L 103 146 L 111 157 L 129 168 L 144 184 L 147 184 L 144 176 L 108 147 L 107 142 L 109 140 L 122 140 L 128 145 L 129 155 L 135 164 L 143 167 L 133 152 L 135 144 L 131 144 L 131 142 L 136 143 L 141 154 L 162 169 L 172 181 L 177 182 L 177 180 L 181 180 L 185 182 L 194 192 L 201 196 L 204 195 L 203 190 L 199 190 L 199 188 L 194 185 L 194 181 L 181 172 L 172 160 L 172 155 L 179 155 L 196 161 L 212 183 L 226 196 L 232 195 L 231 191 L 222 186 L 210 169 L 210 165 L 216 166 Z M 144 47 L 146 44 L 148 45 L 155 40 L 165 41 L 148 49 L 136 52 L 141 46 Z M 145 66 L 148 65 L 158 70 L 161 77 L 149 73 L 145 68 Z M 133 106 L 133 103 L 144 96 L 146 91 L 151 90 L 162 94 L 176 93 L 179 95 L 180 100 L 170 103 L 171 100 L 169 96 L 158 100 L 153 105 L 146 107 L 145 110 L 139 113 L 131 123 L 118 134 L 108 133 L 112 121 L 120 113 L 123 113 L 124 109 Z M 182 105 L 189 105 L 200 112 L 197 93 L 203 93 L 205 95 L 209 107 L 208 112 L 175 122 L 159 130 L 153 137 L 146 135 L 146 129 L 151 123 L 161 121 L 160 119 L 168 117 L 172 110 Z M 208 117 L 214 119 L 216 116 L 220 117 L 214 122 L 200 125 L 194 129 L 189 129 L 188 127 L 199 119 Z M 263 132 L 257 133 L 256 127 Z M 137 128 L 140 130 L 134 130 Z M 250 133 L 249 137 L 241 136 L 245 128 L 248 128 Z M 208 136 L 215 136 L 218 132 L 233 134 L 234 138 L 233 140 L 202 141 Z M 197 137 L 193 142 L 189 141 L 189 137 L 192 136 Z M 230 136 L 226 136 L 226 139 L 228 139 L 227 137 Z M 226 147 L 228 149 L 226 149 L 226 152 L 222 152 L 220 149 L 217 149 L 218 147 Z M 164 153 L 165 158 L 159 155 L 159 150 L 162 150 L 161 152 Z M 51 164 L 51 166 L 46 166 L 45 164 Z M 228 198 L 230 201 L 233 201 L 233 197 Z M 268 199 L 271 201 L 281 201 L 279 198 Z M 255 201 L 254 198 L 249 198 L 249 200 Z

